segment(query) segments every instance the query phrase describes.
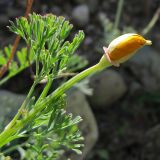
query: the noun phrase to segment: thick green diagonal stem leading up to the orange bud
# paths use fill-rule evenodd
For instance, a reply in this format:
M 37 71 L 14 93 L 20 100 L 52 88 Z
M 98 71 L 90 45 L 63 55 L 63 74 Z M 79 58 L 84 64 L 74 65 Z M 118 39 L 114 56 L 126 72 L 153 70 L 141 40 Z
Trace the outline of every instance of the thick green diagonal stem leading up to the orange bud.
M 16 134 L 18 131 L 20 131 L 24 126 L 26 126 L 28 123 L 30 123 L 32 120 L 35 119 L 36 115 L 39 114 L 51 101 L 57 99 L 59 96 L 61 96 L 64 92 L 66 92 L 68 89 L 70 89 L 75 83 L 78 81 L 84 79 L 85 77 L 89 76 L 90 74 L 100 71 L 106 67 L 109 67 L 111 64 L 106 60 L 106 57 L 103 56 L 100 62 L 83 72 L 77 74 L 75 77 L 71 78 L 69 81 L 61 85 L 58 89 L 56 89 L 52 94 L 48 95 L 44 100 L 39 101 L 39 103 L 36 103 L 33 109 L 28 113 L 28 115 L 18 121 L 17 123 L 14 123 L 13 125 L 10 125 L 10 127 L 6 128 L 1 134 L 0 134 L 0 147 L 4 146 L 4 141 L 10 136 Z M 51 82 L 48 83 L 48 87 L 50 87 Z M 32 90 L 32 89 L 31 89 Z M 48 91 L 48 89 L 46 89 Z M 42 97 L 46 94 L 44 92 L 42 94 Z M 19 115 L 19 114 L 18 114 Z M 15 120 L 17 118 L 14 118 Z M 14 122 L 15 122 L 14 120 Z

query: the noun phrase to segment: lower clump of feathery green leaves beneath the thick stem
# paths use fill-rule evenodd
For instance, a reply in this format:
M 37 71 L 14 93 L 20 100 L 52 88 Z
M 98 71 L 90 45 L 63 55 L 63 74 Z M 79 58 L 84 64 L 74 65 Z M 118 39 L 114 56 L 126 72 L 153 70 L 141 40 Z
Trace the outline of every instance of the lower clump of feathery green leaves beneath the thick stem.
M 23 150 L 22 159 L 56 159 L 68 148 L 81 154 L 80 148 L 83 147 L 83 137 L 78 130 L 77 124 L 82 120 L 81 117 L 73 117 L 66 114 L 64 110 L 65 97 L 62 96 L 58 101 L 48 106 L 33 122 L 31 122 L 27 150 Z M 49 108 L 52 108 L 50 110 Z M 21 152 L 20 152 L 21 153 Z M 28 155 L 30 155 L 28 157 Z

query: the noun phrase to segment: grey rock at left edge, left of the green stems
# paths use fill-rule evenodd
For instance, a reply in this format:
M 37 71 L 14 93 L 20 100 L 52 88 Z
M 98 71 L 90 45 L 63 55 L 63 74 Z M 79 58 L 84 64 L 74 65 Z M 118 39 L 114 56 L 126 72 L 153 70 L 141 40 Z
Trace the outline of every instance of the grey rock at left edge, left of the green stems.
M 24 99 L 24 95 L 11 93 L 4 90 L 0 91 L 0 117 L 1 120 L 2 117 L 5 119 L 5 124 L 13 118 L 18 108 L 22 105 Z

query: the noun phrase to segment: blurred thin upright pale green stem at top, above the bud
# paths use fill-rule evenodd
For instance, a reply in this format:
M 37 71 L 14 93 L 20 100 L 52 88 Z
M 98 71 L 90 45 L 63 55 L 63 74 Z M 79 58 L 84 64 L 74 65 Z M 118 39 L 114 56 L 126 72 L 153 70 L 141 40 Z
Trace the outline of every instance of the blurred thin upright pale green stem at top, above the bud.
M 116 13 L 116 20 L 115 20 L 115 24 L 114 24 L 114 30 L 116 30 L 118 28 L 121 13 L 122 13 L 123 4 L 124 4 L 124 0 L 119 0 L 117 13 Z

